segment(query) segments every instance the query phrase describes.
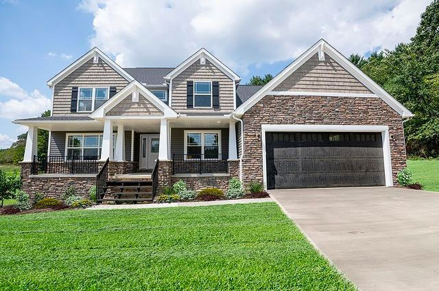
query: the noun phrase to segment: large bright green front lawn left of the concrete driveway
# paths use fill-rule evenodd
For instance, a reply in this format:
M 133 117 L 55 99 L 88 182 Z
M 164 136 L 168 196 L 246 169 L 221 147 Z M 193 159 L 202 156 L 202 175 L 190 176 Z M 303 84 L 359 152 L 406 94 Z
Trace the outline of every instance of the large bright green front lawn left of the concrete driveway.
M 0 217 L 0 290 L 355 290 L 274 203 Z

